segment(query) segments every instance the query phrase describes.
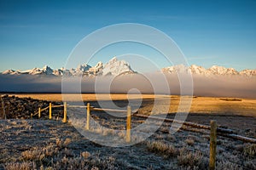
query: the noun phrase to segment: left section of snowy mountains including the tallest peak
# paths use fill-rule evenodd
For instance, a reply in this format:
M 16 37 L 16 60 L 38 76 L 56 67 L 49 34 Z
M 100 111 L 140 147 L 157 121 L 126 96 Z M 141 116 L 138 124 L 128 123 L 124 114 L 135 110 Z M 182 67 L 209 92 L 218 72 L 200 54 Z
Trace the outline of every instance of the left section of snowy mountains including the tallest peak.
M 83 76 L 83 77 L 95 77 L 95 76 L 107 76 L 107 75 L 123 75 L 123 74 L 132 74 L 136 73 L 131 69 L 129 63 L 125 60 L 118 60 L 115 57 L 110 59 L 107 64 L 103 65 L 100 61 L 95 66 L 90 66 L 87 64 L 78 65 L 76 69 L 51 69 L 48 65 L 45 65 L 43 69 L 33 68 L 32 70 L 27 71 L 14 71 L 14 70 L 7 70 L 3 71 L 2 74 L 9 74 L 9 75 L 50 75 L 50 76 Z

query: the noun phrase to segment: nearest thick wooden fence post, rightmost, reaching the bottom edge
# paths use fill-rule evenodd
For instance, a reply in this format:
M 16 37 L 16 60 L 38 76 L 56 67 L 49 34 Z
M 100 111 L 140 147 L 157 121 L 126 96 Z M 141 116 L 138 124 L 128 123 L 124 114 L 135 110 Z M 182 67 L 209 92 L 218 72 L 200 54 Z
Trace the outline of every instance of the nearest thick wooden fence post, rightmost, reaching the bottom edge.
M 216 121 L 211 121 L 209 170 L 215 170 L 216 146 L 217 146 L 217 123 Z

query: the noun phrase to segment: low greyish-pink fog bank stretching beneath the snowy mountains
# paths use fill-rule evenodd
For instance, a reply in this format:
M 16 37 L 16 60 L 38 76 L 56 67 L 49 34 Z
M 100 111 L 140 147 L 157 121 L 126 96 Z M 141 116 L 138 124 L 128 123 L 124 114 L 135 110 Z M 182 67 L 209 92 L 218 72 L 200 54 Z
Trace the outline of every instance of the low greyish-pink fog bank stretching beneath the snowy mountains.
M 185 77 L 185 78 L 184 78 Z M 193 84 L 191 84 L 191 80 Z M 0 75 L 0 91 L 13 93 L 136 93 L 191 94 L 195 96 L 256 98 L 256 77 L 202 77 L 154 73 L 119 77 L 61 77 Z M 180 83 L 181 82 L 181 83 Z M 182 84 L 182 85 L 180 85 Z M 191 87 L 192 85 L 193 87 Z M 136 88 L 137 90 L 134 90 Z M 133 89 L 133 90 L 131 90 Z

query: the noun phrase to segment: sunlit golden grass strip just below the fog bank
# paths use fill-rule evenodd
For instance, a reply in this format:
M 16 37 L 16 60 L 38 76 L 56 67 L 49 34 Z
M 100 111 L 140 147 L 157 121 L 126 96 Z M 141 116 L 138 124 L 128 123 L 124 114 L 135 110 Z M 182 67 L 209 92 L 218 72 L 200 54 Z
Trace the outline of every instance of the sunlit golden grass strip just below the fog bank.
M 165 105 L 171 101 L 169 113 L 177 112 L 180 104 L 180 96 L 177 95 L 154 95 L 154 94 L 15 94 L 20 98 L 31 97 L 33 99 L 45 99 L 51 101 L 96 101 L 96 100 L 126 100 L 126 99 L 146 99 L 151 102 L 143 105 L 143 113 L 152 110 L 154 99 L 162 99 L 160 105 Z M 256 116 L 256 99 L 234 99 L 215 97 L 194 97 L 190 107 L 190 113 L 203 114 L 224 114 Z

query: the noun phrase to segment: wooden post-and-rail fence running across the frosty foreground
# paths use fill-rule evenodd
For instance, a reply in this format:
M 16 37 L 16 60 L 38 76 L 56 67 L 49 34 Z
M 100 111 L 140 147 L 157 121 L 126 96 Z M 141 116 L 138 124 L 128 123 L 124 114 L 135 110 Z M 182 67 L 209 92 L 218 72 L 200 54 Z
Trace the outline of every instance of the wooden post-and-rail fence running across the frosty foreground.
M 49 110 L 49 119 L 52 119 L 52 109 L 53 108 L 58 108 L 58 107 L 63 107 L 63 119 L 62 122 L 67 122 L 67 107 L 80 107 L 80 108 L 86 108 L 87 113 L 86 113 L 86 126 L 85 129 L 86 130 L 90 130 L 90 111 L 114 111 L 114 112 L 127 112 L 127 118 L 126 118 L 126 134 L 125 134 L 125 141 L 127 143 L 131 142 L 131 116 L 136 116 L 136 117 L 141 117 L 141 118 L 149 118 L 149 119 L 154 119 L 154 120 L 158 120 L 161 122 L 176 122 L 179 124 L 183 124 L 189 127 L 197 127 L 197 128 L 201 128 L 201 129 L 207 129 L 210 130 L 210 160 L 209 160 L 209 169 L 213 170 L 215 169 L 215 162 L 216 162 L 216 147 L 217 147 L 217 136 L 224 136 L 230 139 L 237 139 L 237 140 L 241 140 L 243 142 L 248 142 L 248 143 L 253 143 L 256 144 L 256 139 L 253 138 L 247 138 L 245 136 L 241 136 L 236 134 L 232 129 L 228 129 L 228 128 L 222 128 L 222 127 L 218 127 L 217 126 L 217 122 L 212 120 L 210 122 L 210 126 L 208 125 L 202 125 L 202 124 L 198 124 L 195 122 L 181 122 L 181 121 L 177 121 L 175 119 L 169 119 L 169 118 L 160 118 L 157 116 L 146 116 L 146 115 L 142 115 L 142 114 L 133 114 L 132 115 L 132 111 L 131 111 L 131 106 L 127 106 L 127 111 L 125 110 L 113 110 L 113 109 L 102 109 L 102 108 L 95 108 L 93 106 L 90 106 L 90 103 L 87 103 L 87 105 L 67 105 L 67 102 L 64 102 L 63 105 L 52 105 L 51 103 L 49 103 L 48 107 L 45 107 L 44 109 L 42 109 L 41 107 L 38 108 L 38 111 L 31 114 L 31 118 L 33 116 L 38 116 L 38 118 L 41 117 L 41 113 L 42 111 L 47 111 Z M 6 118 L 5 115 L 5 111 L 4 111 L 4 105 L 3 105 L 3 100 L 2 100 L 2 107 L 1 107 L 1 111 L 2 113 L 4 113 L 4 116 Z

